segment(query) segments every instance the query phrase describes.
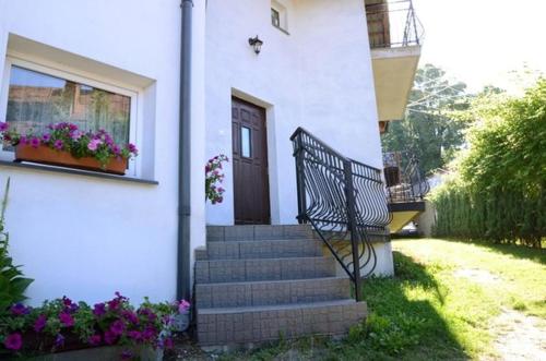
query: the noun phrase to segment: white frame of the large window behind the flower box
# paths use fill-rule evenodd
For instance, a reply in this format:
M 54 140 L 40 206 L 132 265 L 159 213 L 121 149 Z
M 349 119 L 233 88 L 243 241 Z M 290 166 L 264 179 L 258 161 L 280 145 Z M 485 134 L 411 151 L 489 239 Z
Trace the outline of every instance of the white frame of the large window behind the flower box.
M 135 144 L 136 147 L 139 147 L 139 144 L 142 144 L 142 142 L 140 142 L 142 140 L 140 131 L 143 129 L 143 108 L 142 101 L 140 101 L 143 96 L 142 89 L 130 87 L 124 84 L 112 84 L 105 80 L 98 80 L 96 76 L 93 76 L 93 74 L 83 74 L 83 72 L 79 72 L 73 69 L 59 69 L 58 64 L 49 64 L 44 61 L 38 62 L 35 59 L 28 59 L 26 57 L 23 58 L 17 55 L 9 55 L 5 58 L 2 77 L 3 86 L 0 89 L 0 121 L 4 122 L 7 117 L 11 69 L 13 65 L 130 97 L 131 109 L 129 115 L 129 142 Z M 129 160 L 126 176 L 139 177 L 141 175 L 142 163 L 140 158 L 141 156 L 139 155 L 138 157 Z M 11 151 L 4 151 L 3 145 L 0 144 L 0 159 L 14 160 L 14 153 Z

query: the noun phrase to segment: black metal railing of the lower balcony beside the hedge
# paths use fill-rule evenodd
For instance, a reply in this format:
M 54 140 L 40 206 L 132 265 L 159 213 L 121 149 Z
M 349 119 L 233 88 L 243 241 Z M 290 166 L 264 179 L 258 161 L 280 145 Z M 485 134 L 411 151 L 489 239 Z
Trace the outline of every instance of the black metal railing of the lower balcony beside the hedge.
M 389 203 L 418 202 L 430 191 L 419 160 L 411 152 L 384 153 L 383 172 Z

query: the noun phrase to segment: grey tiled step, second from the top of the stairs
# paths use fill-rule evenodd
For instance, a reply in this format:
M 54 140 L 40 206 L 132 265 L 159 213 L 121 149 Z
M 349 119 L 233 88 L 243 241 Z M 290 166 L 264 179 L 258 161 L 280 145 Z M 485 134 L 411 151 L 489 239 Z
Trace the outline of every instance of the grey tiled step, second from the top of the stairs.
M 195 251 L 195 258 L 239 260 L 321 256 L 322 242 L 314 240 L 260 240 L 209 242 L 205 250 Z

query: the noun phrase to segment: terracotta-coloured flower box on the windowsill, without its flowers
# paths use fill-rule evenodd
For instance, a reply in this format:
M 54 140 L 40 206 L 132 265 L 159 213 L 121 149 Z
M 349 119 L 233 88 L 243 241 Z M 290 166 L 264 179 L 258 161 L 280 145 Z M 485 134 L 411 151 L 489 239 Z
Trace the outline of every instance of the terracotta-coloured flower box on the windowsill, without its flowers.
M 75 158 L 69 152 L 51 149 L 47 145 L 34 147 L 19 144 L 15 147 L 15 161 L 33 161 L 51 166 L 71 167 L 85 170 L 103 171 L 123 176 L 127 170 L 127 158 L 116 157 L 100 167 L 100 163 L 93 157 Z

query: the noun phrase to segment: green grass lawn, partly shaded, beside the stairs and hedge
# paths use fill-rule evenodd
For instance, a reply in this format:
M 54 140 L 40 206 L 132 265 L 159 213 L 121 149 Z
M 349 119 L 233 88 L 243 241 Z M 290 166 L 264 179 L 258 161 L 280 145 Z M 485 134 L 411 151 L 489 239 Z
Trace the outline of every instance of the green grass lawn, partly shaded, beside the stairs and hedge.
M 546 325 L 546 251 L 437 239 L 393 248 L 396 277 L 366 281 L 370 314 L 346 339 L 305 338 L 219 359 L 497 359 L 495 321 L 502 312 Z

